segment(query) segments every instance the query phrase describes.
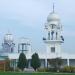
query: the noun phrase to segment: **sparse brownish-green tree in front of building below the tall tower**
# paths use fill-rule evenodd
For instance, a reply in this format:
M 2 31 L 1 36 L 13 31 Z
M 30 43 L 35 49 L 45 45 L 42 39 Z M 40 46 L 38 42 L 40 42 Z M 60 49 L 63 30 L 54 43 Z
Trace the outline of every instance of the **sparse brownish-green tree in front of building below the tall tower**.
M 59 72 L 61 65 L 63 64 L 62 59 L 61 58 L 55 58 L 55 59 L 50 59 L 48 61 L 49 61 L 49 64 L 51 65 L 51 67 L 56 69 L 57 72 Z

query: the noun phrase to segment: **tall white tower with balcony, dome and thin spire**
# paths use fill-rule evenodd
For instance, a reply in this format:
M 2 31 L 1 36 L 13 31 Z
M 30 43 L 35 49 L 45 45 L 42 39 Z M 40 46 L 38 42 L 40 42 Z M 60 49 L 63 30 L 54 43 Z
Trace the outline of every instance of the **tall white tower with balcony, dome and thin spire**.
M 47 55 L 60 55 L 61 53 L 61 43 L 64 42 L 64 38 L 61 34 L 62 24 L 60 17 L 54 10 L 47 17 L 47 23 L 45 25 L 45 30 L 47 35 L 43 38 L 46 44 Z

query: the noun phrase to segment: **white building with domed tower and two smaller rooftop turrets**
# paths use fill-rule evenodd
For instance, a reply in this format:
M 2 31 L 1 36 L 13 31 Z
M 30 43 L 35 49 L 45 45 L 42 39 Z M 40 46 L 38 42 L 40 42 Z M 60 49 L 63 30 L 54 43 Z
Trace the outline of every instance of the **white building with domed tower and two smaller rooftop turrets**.
M 53 11 L 47 17 L 45 30 L 47 35 L 43 38 L 43 42 L 46 46 L 46 52 L 45 54 L 39 54 L 39 57 L 41 59 L 41 67 L 48 67 L 48 59 L 53 59 L 57 57 L 62 58 L 64 62 L 63 66 L 75 66 L 75 55 L 62 53 L 61 45 L 62 43 L 64 43 L 64 38 L 62 36 L 62 24 L 59 15 L 54 11 L 54 5 Z M 9 58 L 9 60 L 12 60 L 10 63 L 11 67 L 15 68 L 17 66 L 19 54 L 23 52 L 26 54 L 26 57 L 29 61 L 28 67 L 30 67 L 30 60 L 32 56 L 30 40 L 22 38 L 21 41 L 18 43 L 18 52 L 15 53 L 14 51 L 12 51 L 12 49 L 15 46 L 12 38 L 12 34 L 5 35 L 4 43 L 2 44 L 3 52 L 0 52 L 1 60 Z M 7 47 L 5 47 L 5 43 L 10 45 L 8 46 L 10 50 Z M 7 51 L 6 48 L 9 51 Z

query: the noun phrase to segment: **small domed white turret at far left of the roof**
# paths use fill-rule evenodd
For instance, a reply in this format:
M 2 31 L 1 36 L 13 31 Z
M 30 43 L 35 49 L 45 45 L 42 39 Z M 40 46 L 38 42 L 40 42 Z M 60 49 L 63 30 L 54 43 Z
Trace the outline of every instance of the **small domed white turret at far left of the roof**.
M 2 43 L 4 53 L 13 53 L 14 52 L 14 39 L 11 33 L 7 33 L 4 36 L 4 42 Z

